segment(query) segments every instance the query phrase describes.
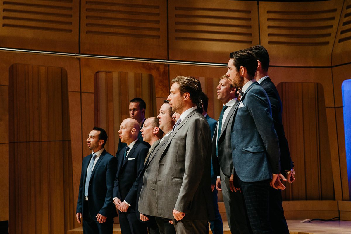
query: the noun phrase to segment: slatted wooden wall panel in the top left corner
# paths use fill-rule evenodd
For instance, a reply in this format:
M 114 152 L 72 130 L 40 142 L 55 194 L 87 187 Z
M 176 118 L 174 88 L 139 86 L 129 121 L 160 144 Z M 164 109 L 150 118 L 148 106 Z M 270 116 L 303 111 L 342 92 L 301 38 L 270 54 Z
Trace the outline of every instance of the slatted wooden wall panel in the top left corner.
M 0 4 L 0 46 L 78 53 L 78 0 L 8 0 Z

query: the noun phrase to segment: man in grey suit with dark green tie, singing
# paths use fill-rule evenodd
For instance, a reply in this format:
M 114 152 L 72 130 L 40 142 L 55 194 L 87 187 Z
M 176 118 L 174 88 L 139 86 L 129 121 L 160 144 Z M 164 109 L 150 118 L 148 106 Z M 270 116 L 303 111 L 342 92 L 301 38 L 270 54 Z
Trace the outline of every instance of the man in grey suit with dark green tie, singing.
M 231 154 L 231 126 L 234 110 L 239 103 L 236 91 L 226 75 L 220 77 L 217 99 L 224 104 L 212 138 L 212 161 L 217 162 L 217 167 L 213 168 L 218 177 L 216 188 L 222 191 L 229 229 L 232 234 L 247 234 L 251 229 L 248 227 L 249 222 L 246 221 L 247 215 L 242 195 L 238 191 L 238 180 Z

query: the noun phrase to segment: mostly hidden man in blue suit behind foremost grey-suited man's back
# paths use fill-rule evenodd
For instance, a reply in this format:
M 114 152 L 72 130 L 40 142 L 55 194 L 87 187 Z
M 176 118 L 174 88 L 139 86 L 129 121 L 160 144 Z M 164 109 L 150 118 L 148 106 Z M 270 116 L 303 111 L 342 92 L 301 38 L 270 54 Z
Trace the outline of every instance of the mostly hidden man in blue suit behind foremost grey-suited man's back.
M 210 125 L 211 138 L 212 138 L 214 134 L 214 130 L 216 129 L 217 121 L 207 115 L 208 97 L 204 92 L 201 93 L 200 100 L 203 108 L 202 115 L 206 118 L 208 125 Z M 214 163 L 216 163 L 216 161 L 214 161 Z M 211 188 L 212 188 L 212 198 L 213 198 L 212 201 L 213 201 L 213 208 L 214 208 L 214 216 L 216 218 L 210 221 L 210 228 L 213 234 L 223 233 L 223 221 L 222 221 L 222 217 L 220 216 L 219 207 L 218 207 L 218 196 L 217 196 L 218 191 L 217 189 L 214 189 L 216 187 L 216 180 L 217 180 L 217 176 L 214 174 L 213 162 L 211 160 Z

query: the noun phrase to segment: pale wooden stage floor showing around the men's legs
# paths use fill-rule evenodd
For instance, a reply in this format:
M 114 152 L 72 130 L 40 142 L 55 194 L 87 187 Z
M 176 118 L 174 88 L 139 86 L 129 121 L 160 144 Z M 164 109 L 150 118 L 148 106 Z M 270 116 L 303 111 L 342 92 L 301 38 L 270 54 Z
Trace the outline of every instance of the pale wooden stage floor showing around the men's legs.
M 300 223 L 302 220 L 287 220 L 290 234 L 339 234 L 351 233 L 351 221 L 312 221 Z M 224 234 L 230 234 L 227 222 L 223 222 Z M 210 233 L 211 230 L 210 230 Z M 82 227 L 69 230 L 67 234 L 83 234 Z M 113 226 L 113 234 L 121 234 L 119 224 Z

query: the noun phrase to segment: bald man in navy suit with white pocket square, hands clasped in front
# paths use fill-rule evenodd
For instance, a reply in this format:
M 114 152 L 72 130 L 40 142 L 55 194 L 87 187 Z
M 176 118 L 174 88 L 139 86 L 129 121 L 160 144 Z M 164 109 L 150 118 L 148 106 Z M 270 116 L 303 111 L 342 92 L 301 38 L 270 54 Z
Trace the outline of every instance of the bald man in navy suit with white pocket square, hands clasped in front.
M 119 152 L 118 171 L 114 180 L 113 203 L 118 209 L 121 233 L 147 234 L 147 227 L 136 216 L 138 185 L 135 183 L 145 163 L 148 147 L 138 140 L 139 123 L 127 118 L 119 129 L 121 142 L 127 144 Z

